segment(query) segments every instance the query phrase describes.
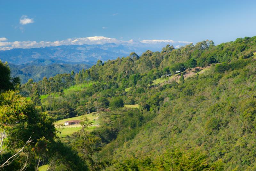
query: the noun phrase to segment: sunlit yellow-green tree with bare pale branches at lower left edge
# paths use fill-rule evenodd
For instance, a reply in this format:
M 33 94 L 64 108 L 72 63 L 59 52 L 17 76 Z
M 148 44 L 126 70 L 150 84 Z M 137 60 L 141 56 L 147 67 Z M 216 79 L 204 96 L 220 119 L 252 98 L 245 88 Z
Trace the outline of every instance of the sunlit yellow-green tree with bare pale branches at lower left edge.
M 0 169 L 8 170 L 13 165 L 20 169 L 33 166 L 35 156 L 45 150 L 44 147 L 35 148 L 39 145 L 38 139 L 44 137 L 52 141 L 55 137 L 53 120 L 17 92 L 2 93 L 0 99 L 0 132 L 5 146 L 0 150 Z M 17 159 L 22 161 L 19 166 Z

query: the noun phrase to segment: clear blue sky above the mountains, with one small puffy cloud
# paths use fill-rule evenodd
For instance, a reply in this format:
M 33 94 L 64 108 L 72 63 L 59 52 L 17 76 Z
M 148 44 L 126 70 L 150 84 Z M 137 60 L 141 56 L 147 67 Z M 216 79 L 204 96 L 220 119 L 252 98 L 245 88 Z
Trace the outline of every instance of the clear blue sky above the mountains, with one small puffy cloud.
M 209 39 L 219 44 L 255 36 L 255 9 L 255 0 L 0 0 L 0 38 L 13 42 L 105 36 L 195 43 Z

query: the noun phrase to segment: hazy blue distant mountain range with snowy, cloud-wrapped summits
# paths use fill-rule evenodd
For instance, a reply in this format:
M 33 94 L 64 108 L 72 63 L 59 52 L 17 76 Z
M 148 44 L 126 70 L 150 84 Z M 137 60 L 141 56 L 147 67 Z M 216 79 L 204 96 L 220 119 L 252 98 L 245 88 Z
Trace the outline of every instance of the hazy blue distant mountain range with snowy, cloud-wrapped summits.
M 88 68 L 98 60 L 107 61 L 128 56 L 131 52 L 138 55 L 150 49 L 160 51 L 167 44 L 176 48 L 191 42 L 172 40 L 120 41 L 102 36 L 67 39 L 54 42 L 23 41 L 4 42 L 10 46 L 0 49 L 0 59 L 10 64 L 12 76 L 19 76 L 22 83 L 29 78 L 34 81 L 52 77 L 59 73 Z M 21 48 L 16 48 L 21 47 Z

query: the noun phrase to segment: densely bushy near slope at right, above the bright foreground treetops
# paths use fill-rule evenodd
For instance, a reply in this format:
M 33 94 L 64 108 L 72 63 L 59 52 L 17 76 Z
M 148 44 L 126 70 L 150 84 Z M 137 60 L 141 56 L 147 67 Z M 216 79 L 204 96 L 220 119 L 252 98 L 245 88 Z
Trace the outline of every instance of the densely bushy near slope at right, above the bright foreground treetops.
M 127 164 L 127 155 L 137 159 L 148 155 L 156 162 L 166 149 L 197 147 L 208 153 L 210 162 L 221 159 L 224 170 L 254 170 L 256 63 L 232 70 L 222 73 L 212 67 L 184 84 L 143 94 L 148 98 L 159 94 L 164 104 L 154 120 L 115 150 L 113 160 Z

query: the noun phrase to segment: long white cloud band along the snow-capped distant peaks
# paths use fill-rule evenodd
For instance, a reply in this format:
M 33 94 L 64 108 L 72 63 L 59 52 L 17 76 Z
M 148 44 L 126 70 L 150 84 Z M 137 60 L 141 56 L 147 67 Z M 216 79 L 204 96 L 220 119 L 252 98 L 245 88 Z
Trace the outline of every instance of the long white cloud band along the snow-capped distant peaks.
M 122 39 L 122 38 L 120 38 Z M 184 46 L 184 44 L 189 44 L 188 41 L 172 41 L 172 40 L 142 40 L 142 41 L 123 41 L 117 40 L 115 38 L 108 38 L 103 36 L 94 36 L 94 37 L 81 37 L 81 38 L 72 38 L 61 41 L 13 41 L 7 42 L 6 38 L 0 38 L 0 50 L 9 50 L 13 48 L 40 48 L 40 47 L 49 47 L 49 46 L 60 46 L 60 45 L 97 45 L 97 44 L 106 44 L 106 43 L 115 43 L 115 44 L 125 44 L 132 46 L 147 46 L 147 45 L 159 45 L 164 46 L 166 44 L 175 44 L 178 48 Z M 181 45 L 180 45 L 181 44 Z M 180 45 L 180 46 L 178 46 Z

